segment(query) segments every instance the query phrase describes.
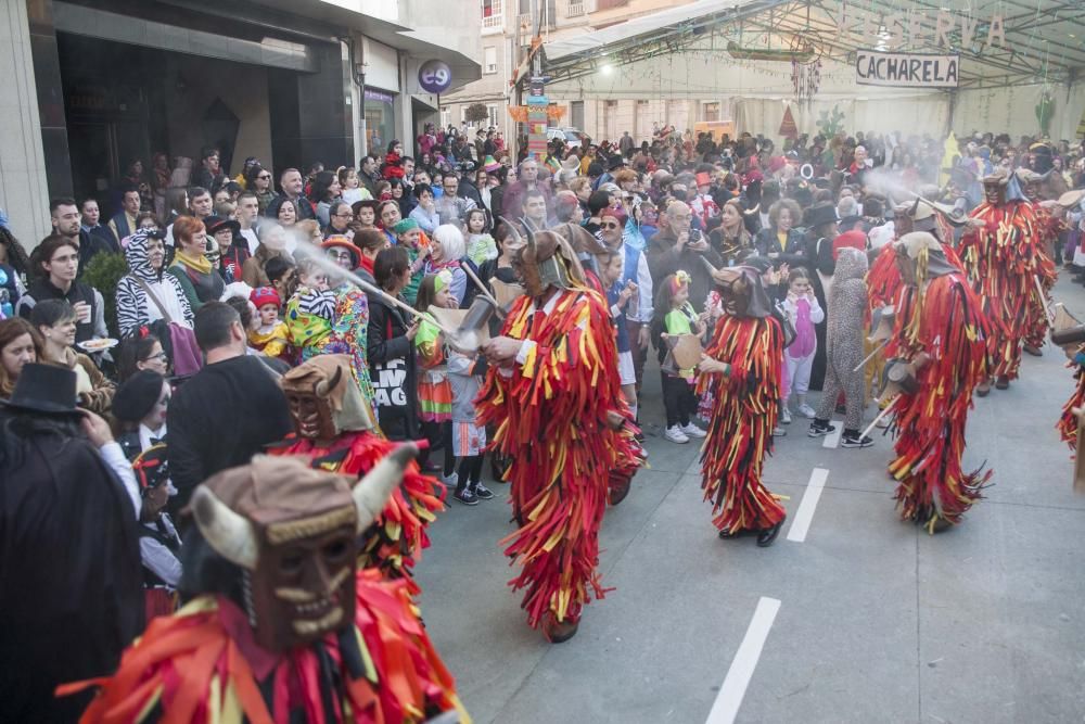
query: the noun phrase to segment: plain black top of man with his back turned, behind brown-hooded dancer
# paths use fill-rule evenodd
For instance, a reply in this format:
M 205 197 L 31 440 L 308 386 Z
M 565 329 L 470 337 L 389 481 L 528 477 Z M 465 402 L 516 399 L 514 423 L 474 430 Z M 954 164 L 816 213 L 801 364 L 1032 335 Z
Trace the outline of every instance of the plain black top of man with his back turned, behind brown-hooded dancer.
M 245 465 L 294 429 L 286 397 L 258 357 L 207 365 L 179 386 L 169 403 L 170 511 L 189 503 L 196 485 L 220 470 Z

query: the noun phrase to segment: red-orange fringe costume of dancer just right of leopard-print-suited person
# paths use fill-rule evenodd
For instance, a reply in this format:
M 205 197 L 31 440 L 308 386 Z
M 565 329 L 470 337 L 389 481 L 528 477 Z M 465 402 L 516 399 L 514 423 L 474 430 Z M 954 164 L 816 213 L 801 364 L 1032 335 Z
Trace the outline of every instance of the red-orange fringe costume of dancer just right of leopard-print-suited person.
M 961 470 L 972 391 L 987 378 L 988 325 L 962 275 L 931 279 L 922 294 L 908 288 L 902 300 L 886 357 L 910 360 L 924 352 L 930 360 L 917 372 L 919 391 L 893 403 L 898 437 L 889 472 L 899 483 L 902 518 L 933 533 L 940 520 L 959 523 L 992 475 L 982 465 Z

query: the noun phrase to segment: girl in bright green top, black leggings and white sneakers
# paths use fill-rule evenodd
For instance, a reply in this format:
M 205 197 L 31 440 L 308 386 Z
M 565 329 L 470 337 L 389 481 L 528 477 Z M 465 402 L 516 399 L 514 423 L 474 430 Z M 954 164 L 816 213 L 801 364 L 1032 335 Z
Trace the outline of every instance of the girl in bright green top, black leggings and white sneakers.
M 655 293 L 655 314 L 651 332 L 659 350 L 661 365 L 665 363 L 671 350 L 667 338 L 704 334 L 704 322 L 689 303 L 689 275 L 678 270 L 677 274 L 663 279 Z M 667 414 L 664 436 L 679 444 L 688 443 L 690 437 L 704 437 L 704 430 L 692 422 L 692 417 L 697 415 L 697 395 L 693 394 L 692 388 L 693 370 L 661 368 L 660 376 L 663 380 L 663 404 Z

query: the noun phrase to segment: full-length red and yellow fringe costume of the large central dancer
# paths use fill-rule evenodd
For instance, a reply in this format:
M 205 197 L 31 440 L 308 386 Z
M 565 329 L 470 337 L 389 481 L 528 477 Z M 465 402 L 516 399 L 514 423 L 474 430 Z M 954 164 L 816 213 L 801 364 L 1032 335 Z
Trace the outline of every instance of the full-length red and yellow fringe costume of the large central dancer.
M 526 588 L 522 608 L 537 628 L 576 622 L 599 582 L 599 528 L 608 487 L 640 465 L 639 446 L 608 412 L 628 416 L 617 372 L 617 346 L 605 300 L 577 287 L 559 290 L 552 309 L 521 296 L 501 334 L 535 342 L 511 374 L 492 368 L 475 399 L 478 424 L 496 428 L 492 448 L 511 459 L 512 509 L 521 528 L 505 552 L 523 566 L 509 585 Z

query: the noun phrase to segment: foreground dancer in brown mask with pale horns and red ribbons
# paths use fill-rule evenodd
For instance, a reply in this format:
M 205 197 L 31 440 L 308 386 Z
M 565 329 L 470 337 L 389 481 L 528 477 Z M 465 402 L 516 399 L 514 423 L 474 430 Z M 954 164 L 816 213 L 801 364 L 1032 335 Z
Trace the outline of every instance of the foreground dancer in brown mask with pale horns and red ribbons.
M 182 590 L 151 622 L 80 720 L 424 722 L 467 713 L 406 583 L 357 570 L 369 528 L 418 448 L 357 484 L 302 460 L 257 456 L 192 496 Z M 352 490 L 352 485 L 354 488 Z

